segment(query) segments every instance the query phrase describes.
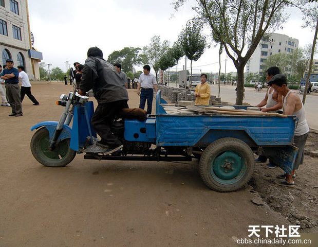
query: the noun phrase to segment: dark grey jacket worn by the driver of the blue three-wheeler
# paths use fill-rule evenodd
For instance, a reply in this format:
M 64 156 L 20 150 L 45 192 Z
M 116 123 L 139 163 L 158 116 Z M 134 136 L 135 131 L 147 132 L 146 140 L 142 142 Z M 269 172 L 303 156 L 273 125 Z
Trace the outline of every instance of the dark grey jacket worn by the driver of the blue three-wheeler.
M 88 57 L 83 68 L 80 90 L 91 89 L 98 103 L 128 100 L 128 92 L 115 67 L 100 57 Z

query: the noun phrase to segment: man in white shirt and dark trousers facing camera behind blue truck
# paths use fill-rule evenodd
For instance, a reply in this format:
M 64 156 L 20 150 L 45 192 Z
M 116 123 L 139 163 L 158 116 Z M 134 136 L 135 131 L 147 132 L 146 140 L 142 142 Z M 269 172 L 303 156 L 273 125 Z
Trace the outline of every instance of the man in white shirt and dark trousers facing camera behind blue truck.
M 151 114 L 154 99 L 154 89 L 158 92 L 157 80 L 155 76 L 149 74 L 150 66 L 143 66 L 143 74 L 140 75 L 138 80 L 137 94 L 140 95 L 139 108 L 144 110 L 147 100 L 147 114 Z M 140 94 L 141 89 L 141 94 Z

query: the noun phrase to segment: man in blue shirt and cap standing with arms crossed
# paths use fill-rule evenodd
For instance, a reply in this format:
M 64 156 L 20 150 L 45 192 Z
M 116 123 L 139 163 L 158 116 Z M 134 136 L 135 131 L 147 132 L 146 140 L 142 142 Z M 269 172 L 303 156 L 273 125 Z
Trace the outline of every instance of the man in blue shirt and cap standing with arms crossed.
M 18 85 L 19 72 L 13 67 L 13 60 L 7 59 L 6 69 L 1 74 L 1 79 L 5 80 L 7 98 L 12 108 L 12 113 L 9 116 L 20 117 L 22 113 L 20 86 Z

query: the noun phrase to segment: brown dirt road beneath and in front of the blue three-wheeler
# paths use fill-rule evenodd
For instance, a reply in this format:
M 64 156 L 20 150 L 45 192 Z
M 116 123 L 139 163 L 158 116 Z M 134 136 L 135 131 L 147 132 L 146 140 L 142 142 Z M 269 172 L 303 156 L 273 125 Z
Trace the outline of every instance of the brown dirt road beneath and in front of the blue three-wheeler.
M 282 225 L 248 186 L 217 193 L 197 163 L 85 161 L 47 168 L 30 152 L 30 127 L 58 120 L 54 104 L 69 86 L 34 83 L 39 106 L 25 98 L 23 117 L 0 109 L 0 246 L 238 246 L 248 225 Z M 135 90 L 130 107 L 138 107 Z

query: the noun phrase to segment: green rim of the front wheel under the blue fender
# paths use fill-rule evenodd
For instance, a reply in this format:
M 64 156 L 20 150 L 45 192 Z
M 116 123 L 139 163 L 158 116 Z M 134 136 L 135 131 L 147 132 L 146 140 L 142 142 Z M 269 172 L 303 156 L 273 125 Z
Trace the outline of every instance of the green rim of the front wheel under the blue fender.
M 69 154 L 69 144 L 68 140 L 64 139 L 59 142 L 53 151 L 49 150 L 49 133 L 43 135 L 39 140 L 38 146 L 39 154 L 48 161 L 63 161 Z

